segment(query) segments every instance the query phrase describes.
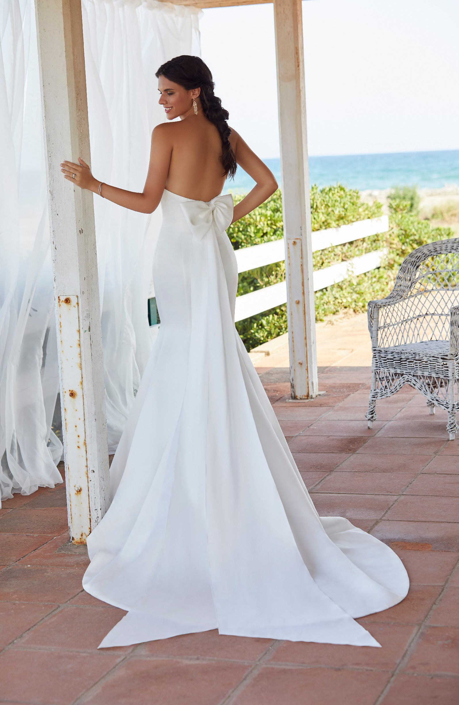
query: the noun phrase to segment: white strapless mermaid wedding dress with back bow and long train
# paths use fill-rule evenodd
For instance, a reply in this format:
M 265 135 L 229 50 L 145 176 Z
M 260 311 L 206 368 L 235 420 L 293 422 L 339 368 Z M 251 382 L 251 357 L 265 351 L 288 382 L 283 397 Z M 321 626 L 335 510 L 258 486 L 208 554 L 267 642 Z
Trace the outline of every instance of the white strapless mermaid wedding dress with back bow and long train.
M 161 329 L 88 539 L 84 589 L 128 611 L 101 646 L 215 628 L 379 646 L 354 618 L 401 601 L 408 575 L 310 500 L 234 328 L 232 196 L 161 203 Z

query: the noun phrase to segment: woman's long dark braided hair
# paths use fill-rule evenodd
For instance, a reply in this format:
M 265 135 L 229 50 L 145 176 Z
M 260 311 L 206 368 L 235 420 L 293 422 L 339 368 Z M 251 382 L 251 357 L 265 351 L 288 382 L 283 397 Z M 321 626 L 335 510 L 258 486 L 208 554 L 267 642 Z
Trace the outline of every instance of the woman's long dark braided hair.
M 225 108 L 222 108 L 222 101 L 218 98 L 213 89 L 215 84 L 209 68 L 199 56 L 175 56 L 175 59 L 166 61 L 156 71 L 156 78 L 164 76 L 170 81 L 182 86 L 185 90 L 201 88 L 201 106 L 203 113 L 215 125 L 222 140 L 222 161 L 225 176 L 234 178 L 237 169 L 236 157 L 230 144 L 231 130 L 228 127 L 227 119 L 230 117 Z

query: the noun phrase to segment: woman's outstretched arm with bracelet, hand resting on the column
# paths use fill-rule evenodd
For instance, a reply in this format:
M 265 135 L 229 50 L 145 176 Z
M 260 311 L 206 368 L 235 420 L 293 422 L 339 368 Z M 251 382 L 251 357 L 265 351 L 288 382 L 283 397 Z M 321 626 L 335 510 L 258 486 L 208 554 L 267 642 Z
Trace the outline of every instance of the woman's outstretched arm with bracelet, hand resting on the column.
M 151 135 L 151 150 L 149 171 L 146 175 L 144 190 L 142 193 L 134 191 L 126 191 L 122 188 L 110 186 L 104 183 L 102 186 L 102 195 L 108 201 L 118 204 L 124 208 L 129 208 L 132 211 L 139 213 L 153 213 L 158 207 L 165 182 L 168 178 L 170 157 L 172 154 L 172 140 L 170 135 L 170 125 L 161 123 L 154 128 Z M 99 193 L 100 181 L 92 176 L 89 166 L 78 158 L 80 164 L 74 164 L 72 161 L 64 161 L 61 164 L 61 171 L 64 177 L 72 181 L 80 188 L 86 188 L 94 193 Z M 75 174 L 75 178 L 73 178 Z

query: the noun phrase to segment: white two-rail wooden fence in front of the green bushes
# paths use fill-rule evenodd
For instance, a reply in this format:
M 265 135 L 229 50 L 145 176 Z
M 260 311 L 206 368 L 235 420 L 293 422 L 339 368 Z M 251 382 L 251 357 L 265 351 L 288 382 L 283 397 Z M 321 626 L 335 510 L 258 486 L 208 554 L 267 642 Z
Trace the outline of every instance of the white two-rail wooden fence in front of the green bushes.
M 389 230 L 389 218 L 381 216 L 380 218 L 357 221 L 350 225 L 342 225 L 339 228 L 315 231 L 313 232 L 313 252 L 325 250 L 326 247 L 351 243 L 353 240 L 368 238 L 377 233 L 385 233 L 387 230 Z M 249 271 L 249 269 L 256 269 L 274 262 L 282 262 L 285 259 L 284 240 L 273 240 L 271 243 L 263 243 L 263 245 L 241 247 L 234 254 L 239 272 Z M 387 250 L 384 248 L 367 252 L 366 255 L 360 255 L 360 257 L 353 257 L 347 262 L 339 262 L 324 269 L 317 269 L 313 274 L 314 291 L 343 281 L 352 274 L 365 274 L 367 271 L 377 269 L 386 255 Z M 237 297 L 235 320 L 242 321 L 244 318 L 268 311 L 275 306 L 282 306 L 286 302 L 287 285 L 285 281 L 265 286 Z

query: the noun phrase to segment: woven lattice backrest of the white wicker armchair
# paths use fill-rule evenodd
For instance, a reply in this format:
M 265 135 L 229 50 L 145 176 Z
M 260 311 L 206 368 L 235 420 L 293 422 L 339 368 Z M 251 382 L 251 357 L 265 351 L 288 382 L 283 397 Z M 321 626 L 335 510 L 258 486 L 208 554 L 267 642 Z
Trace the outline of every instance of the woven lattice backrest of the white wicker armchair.
M 379 309 L 379 346 L 448 341 L 449 312 L 459 305 L 459 238 L 410 252 L 384 302 Z

